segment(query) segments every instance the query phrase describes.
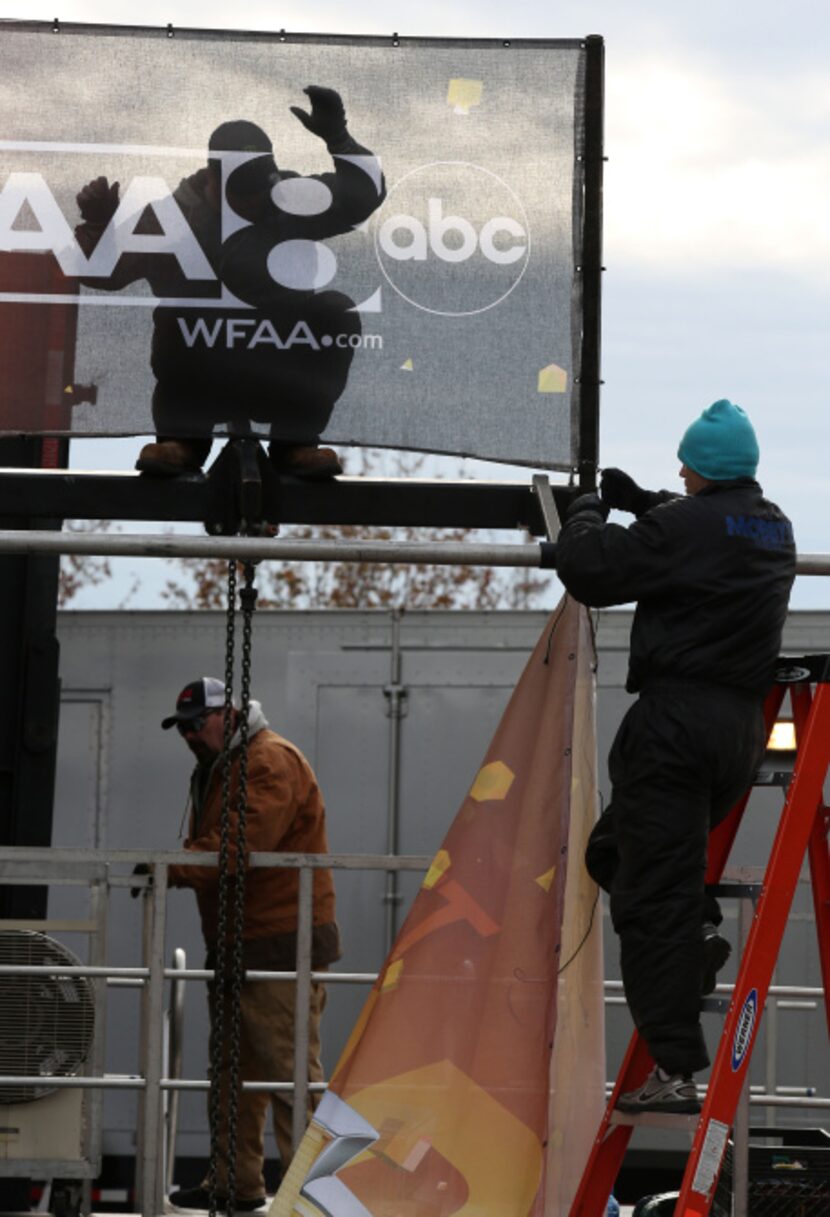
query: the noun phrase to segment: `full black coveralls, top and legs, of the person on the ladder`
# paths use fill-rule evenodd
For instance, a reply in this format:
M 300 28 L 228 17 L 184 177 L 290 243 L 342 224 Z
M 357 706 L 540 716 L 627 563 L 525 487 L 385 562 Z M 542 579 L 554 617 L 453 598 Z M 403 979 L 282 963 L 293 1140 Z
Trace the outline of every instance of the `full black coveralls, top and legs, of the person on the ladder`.
M 612 801 L 587 853 L 611 892 L 626 997 L 669 1073 L 708 1065 L 700 1027 L 710 828 L 751 783 L 795 576 L 792 527 L 750 478 L 651 495 L 629 528 L 571 517 L 557 572 L 584 604 L 636 601 L 628 680 L 639 700 L 609 757 Z

